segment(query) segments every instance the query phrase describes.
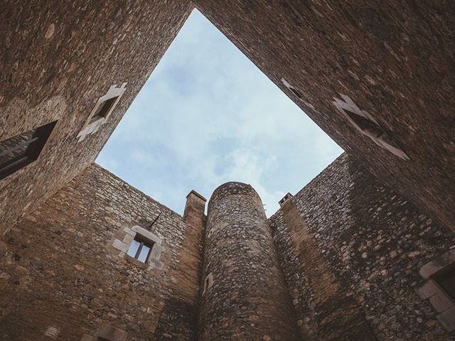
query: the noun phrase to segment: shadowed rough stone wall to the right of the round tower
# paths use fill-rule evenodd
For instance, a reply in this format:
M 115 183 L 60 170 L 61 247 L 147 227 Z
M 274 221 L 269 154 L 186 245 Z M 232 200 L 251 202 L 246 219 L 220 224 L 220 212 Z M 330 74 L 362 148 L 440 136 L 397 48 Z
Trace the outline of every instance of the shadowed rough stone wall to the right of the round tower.
M 350 340 L 454 340 L 414 292 L 420 267 L 455 248 L 454 234 L 350 156 L 343 154 L 284 203 L 269 224 L 307 335 L 348 340 L 353 331 Z M 350 313 L 358 318 L 353 329 Z

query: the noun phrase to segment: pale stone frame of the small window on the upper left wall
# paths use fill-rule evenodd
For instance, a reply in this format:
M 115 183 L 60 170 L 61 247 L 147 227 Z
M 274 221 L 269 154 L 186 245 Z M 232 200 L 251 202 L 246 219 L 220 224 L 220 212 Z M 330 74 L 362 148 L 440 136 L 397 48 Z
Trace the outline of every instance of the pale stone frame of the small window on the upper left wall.
M 122 94 L 124 94 L 126 90 L 125 89 L 126 85 L 127 83 L 122 83 L 120 87 L 117 87 L 117 85 L 112 85 L 111 87 L 109 87 L 109 90 L 107 90 L 106 94 L 102 95 L 97 100 L 97 102 L 95 103 L 95 107 L 93 107 L 92 112 L 90 112 L 90 115 L 87 117 L 84 126 L 82 126 L 82 129 L 80 129 L 79 134 L 77 134 L 79 142 L 84 140 L 87 135 L 94 134 L 98 129 L 100 129 L 100 127 L 103 124 L 107 122 L 110 115 L 114 111 L 115 107 L 117 107 L 120 97 L 122 97 Z M 107 112 L 103 113 L 102 116 L 95 118 L 95 114 L 97 113 L 98 109 L 101 106 L 106 105 L 109 99 L 114 98 L 115 101 L 114 103 L 109 105 Z

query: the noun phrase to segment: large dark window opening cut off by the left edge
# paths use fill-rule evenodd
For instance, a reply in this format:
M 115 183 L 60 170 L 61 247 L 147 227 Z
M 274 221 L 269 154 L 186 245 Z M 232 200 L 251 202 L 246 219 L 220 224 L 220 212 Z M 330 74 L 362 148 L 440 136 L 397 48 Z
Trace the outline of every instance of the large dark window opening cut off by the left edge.
M 0 141 L 0 180 L 36 161 L 56 123 Z

